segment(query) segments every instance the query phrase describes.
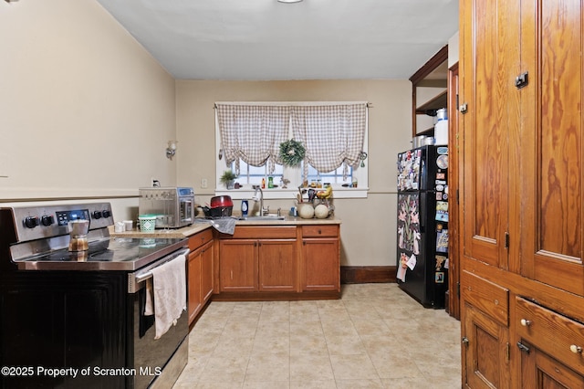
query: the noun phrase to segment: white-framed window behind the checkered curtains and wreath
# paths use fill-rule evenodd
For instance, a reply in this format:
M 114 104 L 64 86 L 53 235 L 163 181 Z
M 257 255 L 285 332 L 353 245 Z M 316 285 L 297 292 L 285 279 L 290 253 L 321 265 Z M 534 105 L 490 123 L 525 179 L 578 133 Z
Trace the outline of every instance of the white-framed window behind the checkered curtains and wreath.
M 217 104 L 223 104 L 223 103 L 217 103 Z M 250 103 L 225 103 L 225 104 L 241 104 L 241 105 L 266 105 L 266 106 L 277 106 L 277 107 L 289 107 L 289 111 L 292 111 L 295 109 L 295 107 L 315 107 L 315 106 L 322 106 L 324 105 L 344 105 L 344 104 L 348 104 L 345 102 L 290 102 L 290 103 L 285 103 L 285 102 L 250 102 Z M 365 104 L 365 103 L 361 103 L 361 104 Z M 366 110 L 365 110 L 366 111 Z M 292 120 L 292 114 L 290 114 L 289 116 L 286 116 L 286 120 L 285 121 L 281 121 L 281 117 L 287 115 L 287 113 L 283 113 L 283 112 L 288 112 L 288 110 L 278 110 L 277 111 L 277 124 L 276 127 L 282 127 L 282 123 L 284 122 L 284 127 L 283 127 L 283 131 L 285 132 L 285 137 L 284 139 L 291 139 L 294 138 L 296 140 L 298 140 L 298 136 L 293 136 L 294 133 L 296 133 L 298 135 L 298 132 L 294 131 L 295 129 L 293 128 L 293 120 Z M 233 118 L 233 116 L 236 116 L 233 111 L 230 112 L 230 116 L 227 118 L 229 121 L 235 121 L 235 119 Z M 271 120 L 275 115 L 269 116 L 268 115 L 268 119 L 267 120 Z M 334 118 L 333 118 L 334 119 Z M 248 121 L 248 118 L 245 118 L 246 121 Z M 262 135 L 262 140 L 265 140 L 266 138 L 266 132 L 269 132 L 270 130 L 267 130 L 270 128 L 270 126 L 266 126 L 266 118 L 262 119 L 262 122 L 260 124 L 257 125 L 249 125 L 249 123 L 245 123 L 246 129 L 245 131 L 256 131 L 255 129 L 259 129 L 262 128 L 262 130 L 257 131 L 257 132 L 261 132 Z M 301 163 L 299 166 L 297 167 L 288 167 L 285 166 L 281 163 L 279 163 L 279 158 L 276 158 L 279 153 L 279 143 L 280 140 L 282 139 L 281 137 L 281 133 L 282 130 L 277 130 L 277 134 L 273 137 L 273 138 L 277 138 L 276 141 L 273 142 L 273 144 L 268 145 L 268 144 L 264 144 L 262 146 L 262 150 L 263 150 L 263 154 L 262 154 L 262 158 L 263 158 L 263 165 L 262 166 L 254 166 L 253 164 L 257 163 L 257 161 L 248 161 L 245 162 L 245 157 L 247 156 L 247 153 L 249 152 L 241 152 L 239 154 L 237 154 L 235 157 L 232 156 L 232 161 L 227 163 L 226 158 L 225 158 L 225 154 L 224 154 L 224 150 L 223 150 L 223 144 L 224 144 L 224 139 L 222 139 L 222 132 L 220 130 L 220 118 L 219 118 L 219 114 L 217 113 L 217 110 L 215 110 L 215 147 L 216 147 L 216 155 L 219 155 L 218 159 L 216 160 L 216 176 L 217 176 L 217 180 L 216 180 L 216 188 L 217 190 L 215 191 L 216 193 L 222 192 L 224 190 L 224 186 L 222 184 L 220 184 L 219 182 L 219 177 L 221 176 L 221 174 L 224 172 L 224 170 L 227 169 L 232 169 L 233 171 L 236 171 L 236 165 L 239 166 L 239 176 L 238 178 L 235 180 L 235 182 L 237 182 L 238 184 L 242 185 L 241 189 L 238 190 L 231 190 L 227 193 L 223 193 L 225 195 L 231 195 L 233 198 L 237 199 L 237 198 L 248 198 L 250 197 L 249 193 L 250 191 L 253 191 L 252 186 L 253 184 L 261 184 L 262 179 L 266 180 L 266 191 L 265 191 L 265 196 L 266 198 L 283 198 L 283 199 L 288 199 L 288 198 L 292 198 L 291 194 L 288 192 L 293 192 L 294 194 L 297 193 L 297 187 L 299 185 L 302 185 L 303 182 L 306 180 L 308 181 L 308 184 L 314 182 L 315 184 L 318 183 L 318 181 L 320 181 L 321 184 L 325 184 L 325 183 L 330 183 L 333 186 L 333 189 L 335 190 L 335 197 L 366 197 L 367 196 L 367 186 L 368 186 L 368 169 L 367 166 L 364 163 L 361 163 L 361 161 L 359 160 L 358 163 L 353 163 L 352 166 L 347 166 L 347 169 L 345 169 L 344 165 L 340 165 L 337 168 L 333 168 L 333 170 L 329 171 L 329 172 L 318 172 L 318 170 L 310 165 L 307 161 L 307 159 L 305 158 L 305 161 L 303 163 Z M 225 117 L 223 117 L 223 121 L 225 121 Z M 339 121 L 339 120 L 338 120 Z M 340 120 L 341 122 L 343 122 L 342 120 Z M 233 123 L 231 123 L 233 124 Z M 328 122 L 328 118 L 327 118 L 327 122 L 325 123 L 325 125 L 330 126 L 329 122 Z M 261 127 L 264 126 L 264 127 Z M 235 126 L 237 130 L 235 131 L 241 131 L 241 127 L 237 127 Z M 309 127 L 309 125 L 308 125 Z M 334 131 L 338 131 L 336 128 L 333 129 Z M 309 129 L 309 131 L 313 131 L 311 128 Z M 326 132 L 326 131 L 322 131 L 322 132 Z M 257 135 L 257 134 L 256 134 Z M 255 135 L 255 136 L 256 136 Z M 249 135 L 245 135 L 247 137 L 249 137 Z M 279 138 L 278 138 L 279 136 Z M 269 137 L 269 136 L 268 136 Z M 362 147 L 361 144 L 359 144 L 359 149 L 358 151 L 360 153 L 362 152 L 367 152 L 367 147 L 368 147 L 368 139 L 367 139 L 367 119 L 365 116 L 365 131 L 364 134 L 362 136 Z M 256 138 L 257 139 L 257 138 Z M 337 143 L 343 143 L 346 142 L 345 139 L 335 139 L 335 140 L 331 140 L 331 142 L 337 142 Z M 312 140 L 311 142 L 315 142 L 315 140 Z M 327 142 L 327 138 L 324 138 L 324 141 L 321 138 L 318 138 L 316 140 L 316 142 L 318 142 L 318 148 L 321 150 L 324 150 L 325 152 L 328 151 L 329 146 L 326 144 Z M 306 144 L 306 142 L 303 142 L 303 144 Z M 238 144 L 236 144 L 236 146 L 238 146 Z M 330 146 L 332 147 L 332 146 Z M 234 149 L 235 150 L 235 149 Z M 312 155 L 314 156 L 315 151 L 312 151 Z M 318 152 L 318 150 L 317 150 Z M 236 154 L 237 152 L 235 152 Z M 244 157 L 242 157 L 242 155 Z M 355 152 L 353 152 L 353 158 L 355 156 Z M 348 159 L 348 158 L 345 158 Z M 316 163 L 318 163 L 318 158 L 317 160 L 315 160 Z M 305 169 L 305 163 L 307 163 L 307 169 Z M 275 187 L 270 189 L 268 188 L 268 177 L 273 177 L 273 183 L 275 184 Z M 353 183 L 358 183 L 357 187 L 354 188 Z M 284 188 L 283 185 L 284 184 Z

